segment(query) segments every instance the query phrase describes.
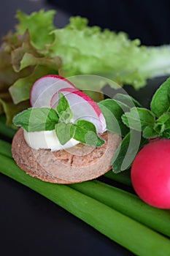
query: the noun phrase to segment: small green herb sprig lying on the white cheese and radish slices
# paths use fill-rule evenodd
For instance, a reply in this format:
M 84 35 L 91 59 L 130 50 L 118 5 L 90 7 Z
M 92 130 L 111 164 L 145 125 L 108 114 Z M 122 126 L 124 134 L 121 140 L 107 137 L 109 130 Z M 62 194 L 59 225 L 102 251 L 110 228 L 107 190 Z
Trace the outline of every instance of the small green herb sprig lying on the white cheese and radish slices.
M 41 132 L 55 129 L 61 145 L 71 138 L 91 146 L 104 144 L 93 123 L 86 120 L 74 121 L 74 114 L 66 97 L 60 92 L 58 106 L 53 108 L 28 108 L 13 118 L 17 127 L 23 127 L 27 132 Z

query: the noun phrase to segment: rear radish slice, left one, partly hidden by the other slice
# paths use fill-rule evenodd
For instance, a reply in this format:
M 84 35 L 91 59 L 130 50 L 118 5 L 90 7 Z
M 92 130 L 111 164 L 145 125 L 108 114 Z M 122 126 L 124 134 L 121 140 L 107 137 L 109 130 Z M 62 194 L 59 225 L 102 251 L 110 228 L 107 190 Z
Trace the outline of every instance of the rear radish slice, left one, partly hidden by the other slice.
M 36 80 L 31 88 L 30 103 L 32 107 L 50 108 L 50 100 L 58 90 L 75 86 L 59 75 L 45 75 Z

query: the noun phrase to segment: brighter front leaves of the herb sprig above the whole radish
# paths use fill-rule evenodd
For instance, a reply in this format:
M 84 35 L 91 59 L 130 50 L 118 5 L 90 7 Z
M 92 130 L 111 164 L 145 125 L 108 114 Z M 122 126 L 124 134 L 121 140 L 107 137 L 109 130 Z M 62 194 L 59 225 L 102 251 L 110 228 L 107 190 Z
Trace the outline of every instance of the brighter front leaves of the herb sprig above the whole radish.
M 143 138 L 170 138 L 170 78 L 153 95 L 150 110 L 131 108 L 130 112 L 123 114 L 122 121 L 127 127 L 141 131 Z M 138 121 L 140 129 L 136 127 Z

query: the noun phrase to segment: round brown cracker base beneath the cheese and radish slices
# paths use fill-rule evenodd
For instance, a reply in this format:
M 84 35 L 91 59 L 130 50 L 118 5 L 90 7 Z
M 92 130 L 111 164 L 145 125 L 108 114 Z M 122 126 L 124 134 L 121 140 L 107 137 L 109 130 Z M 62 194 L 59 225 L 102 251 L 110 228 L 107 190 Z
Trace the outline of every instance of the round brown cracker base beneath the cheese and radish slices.
M 68 152 L 61 150 L 61 151 L 55 151 L 51 152 L 50 150 L 47 149 L 39 149 L 35 150 L 30 148 L 26 141 L 23 138 L 23 129 L 20 128 L 18 132 L 15 134 L 15 137 L 12 140 L 12 157 L 15 159 L 15 162 L 17 165 L 24 170 L 28 175 L 33 176 L 35 178 L 39 178 L 42 181 L 47 181 L 50 183 L 58 183 L 58 184 L 72 184 L 72 183 L 80 183 L 82 181 L 88 181 L 93 178 L 98 178 L 98 176 L 103 175 L 104 173 L 107 173 L 108 170 L 111 169 L 110 160 L 112 159 L 112 156 L 117 149 L 117 146 L 120 144 L 121 138 L 119 135 L 112 134 L 110 132 L 105 132 L 104 135 L 101 135 L 102 138 L 106 140 L 106 143 L 104 143 L 104 146 L 101 146 L 99 148 L 95 148 L 92 153 L 88 154 L 85 157 L 82 157 L 82 162 L 83 159 L 84 164 L 86 164 L 83 167 L 80 166 L 75 166 L 72 167 L 70 165 L 70 161 L 66 162 L 66 157 L 69 159 L 71 154 Z M 108 147 L 108 138 L 109 138 L 109 147 Z M 87 146 L 88 147 L 88 146 Z M 98 156 L 98 151 L 100 150 L 102 152 L 102 148 L 104 149 L 104 152 L 101 157 L 98 159 L 91 159 L 91 156 L 97 154 Z M 105 155 L 106 150 L 109 151 L 109 156 L 108 154 Z M 112 155 L 111 155 L 112 154 Z M 38 155 L 42 159 L 47 159 L 49 157 L 55 157 L 55 162 L 49 161 L 48 159 L 47 162 L 50 162 L 50 171 L 47 166 L 47 169 L 45 170 L 44 167 L 42 167 L 42 162 L 41 161 L 36 161 L 35 156 Z M 104 156 L 105 155 L 105 156 Z M 63 159 L 58 159 L 60 156 Z M 37 156 L 36 156 L 37 157 Z M 71 157 L 72 158 L 72 157 Z M 88 158 L 91 161 L 91 164 L 88 165 Z M 74 165 L 77 164 L 77 159 L 80 159 L 79 157 L 74 157 Z M 104 162 L 107 164 L 105 165 Z M 59 163 L 58 163 L 59 161 Z M 64 163 L 61 163 L 64 161 Z M 98 164 L 98 161 L 100 161 L 103 165 L 99 164 L 100 168 L 96 165 Z M 46 165 L 46 161 L 43 161 Z M 57 163 L 57 166 L 55 166 L 55 163 Z M 94 165 L 94 167 L 93 167 Z M 63 170 L 64 166 L 64 170 Z M 105 166 L 105 167 L 104 167 Z M 61 169 L 63 170 L 63 177 L 58 178 L 58 170 Z M 102 170 L 101 170 L 102 169 Z M 47 171 L 48 170 L 48 171 Z M 60 171 L 61 171 L 60 170 Z M 79 170 L 81 170 L 81 173 L 79 173 Z M 79 174 L 77 174 L 79 173 Z

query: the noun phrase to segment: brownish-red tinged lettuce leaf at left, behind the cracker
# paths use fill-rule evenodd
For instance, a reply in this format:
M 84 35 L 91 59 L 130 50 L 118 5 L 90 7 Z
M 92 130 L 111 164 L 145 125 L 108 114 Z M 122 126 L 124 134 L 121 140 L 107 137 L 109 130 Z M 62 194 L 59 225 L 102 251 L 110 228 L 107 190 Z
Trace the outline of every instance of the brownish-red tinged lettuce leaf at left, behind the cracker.
M 9 32 L 0 46 L 0 114 L 5 113 L 7 124 L 29 107 L 31 86 L 47 74 L 58 74 L 61 59 L 39 52 L 31 41 L 28 29 L 24 34 Z

